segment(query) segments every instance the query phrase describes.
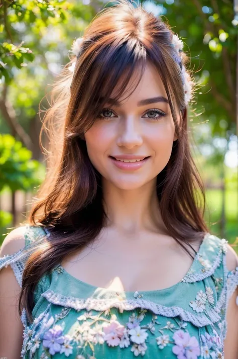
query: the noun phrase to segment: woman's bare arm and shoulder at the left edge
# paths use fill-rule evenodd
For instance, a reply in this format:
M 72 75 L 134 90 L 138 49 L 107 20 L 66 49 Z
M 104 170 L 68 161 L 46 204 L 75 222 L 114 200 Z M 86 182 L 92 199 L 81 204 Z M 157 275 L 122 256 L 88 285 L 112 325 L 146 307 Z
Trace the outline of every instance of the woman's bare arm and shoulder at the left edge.
M 25 246 L 25 227 L 11 231 L 4 239 L 0 257 L 18 252 Z M 0 269 L 0 357 L 20 359 L 23 344 L 23 324 L 18 314 L 21 287 L 11 265 Z

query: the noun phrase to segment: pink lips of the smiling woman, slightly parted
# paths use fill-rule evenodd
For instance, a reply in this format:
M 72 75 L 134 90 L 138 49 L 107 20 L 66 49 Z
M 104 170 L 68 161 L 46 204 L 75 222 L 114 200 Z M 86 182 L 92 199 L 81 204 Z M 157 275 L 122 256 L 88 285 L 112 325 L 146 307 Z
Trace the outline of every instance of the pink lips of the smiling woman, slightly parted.
M 118 155 L 109 156 L 116 167 L 121 169 L 135 170 L 141 168 L 142 165 L 149 159 L 150 156 L 138 155 Z

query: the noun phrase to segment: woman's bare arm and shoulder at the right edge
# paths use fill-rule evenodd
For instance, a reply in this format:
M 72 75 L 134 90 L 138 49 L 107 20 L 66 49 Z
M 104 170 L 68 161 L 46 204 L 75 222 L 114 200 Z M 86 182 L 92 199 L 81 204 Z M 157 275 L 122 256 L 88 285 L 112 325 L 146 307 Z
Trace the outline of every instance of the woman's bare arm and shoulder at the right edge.
M 238 257 L 235 251 L 228 246 L 226 253 L 226 266 L 228 271 L 233 271 L 238 266 Z M 236 298 L 238 296 L 238 287 L 231 295 L 226 312 L 227 332 L 224 341 L 224 359 L 238 358 L 238 305 Z

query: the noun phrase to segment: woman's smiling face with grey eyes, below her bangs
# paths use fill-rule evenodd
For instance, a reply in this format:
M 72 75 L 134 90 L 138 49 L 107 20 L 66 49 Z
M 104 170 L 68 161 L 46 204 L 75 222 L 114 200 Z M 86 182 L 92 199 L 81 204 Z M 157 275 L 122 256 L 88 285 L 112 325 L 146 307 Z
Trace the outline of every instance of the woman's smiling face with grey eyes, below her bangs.
M 138 189 L 156 178 L 168 163 L 177 137 L 165 88 L 153 65 L 147 63 L 126 101 L 105 104 L 98 116 L 84 137 L 90 161 L 102 177 L 123 190 Z M 129 163 L 133 156 L 134 162 Z

